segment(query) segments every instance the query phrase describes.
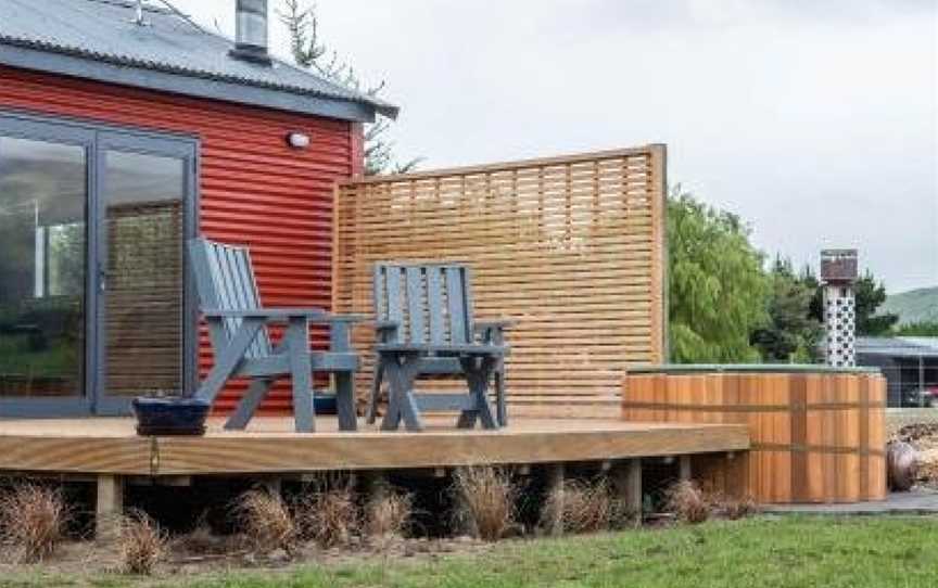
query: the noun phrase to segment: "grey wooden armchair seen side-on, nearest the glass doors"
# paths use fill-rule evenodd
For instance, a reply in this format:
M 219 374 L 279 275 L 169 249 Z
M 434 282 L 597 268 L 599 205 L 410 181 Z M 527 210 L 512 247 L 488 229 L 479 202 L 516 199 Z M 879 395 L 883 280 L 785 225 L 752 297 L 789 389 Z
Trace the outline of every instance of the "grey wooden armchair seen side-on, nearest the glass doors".
M 315 430 L 313 373 L 333 374 L 339 429 L 355 431 L 357 419 L 353 388 L 358 356 L 351 348 L 350 323 L 364 317 L 329 315 L 321 308 L 264 308 L 246 248 L 205 239 L 189 242 L 202 316 L 215 365 L 202 381 L 198 398 L 214 401 L 231 378 L 246 376 L 251 384 L 226 429 L 241 430 L 254 416 L 274 382 L 289 375 L 293 385 L 293 414 L 297 432 Z M 286 323 L 278 345 L 267 331 L 269 323 Z M 310 351 L 309 324 L 330 327 L 328 351 Z

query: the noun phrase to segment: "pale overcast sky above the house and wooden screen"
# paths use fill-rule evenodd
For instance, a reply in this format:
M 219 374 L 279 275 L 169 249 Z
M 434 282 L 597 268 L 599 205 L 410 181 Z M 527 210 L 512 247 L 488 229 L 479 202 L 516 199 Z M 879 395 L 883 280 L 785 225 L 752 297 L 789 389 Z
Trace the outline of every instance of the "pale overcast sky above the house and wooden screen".
M 175 4 L 233 36 L 234 0 Z M 741 216 L 770 255 L 858 247 L 890 292 L 938 285 L 935 0 L 317 7 L 328 44 L 401 105 L 401 158 L 663 142 L 670 183 Z

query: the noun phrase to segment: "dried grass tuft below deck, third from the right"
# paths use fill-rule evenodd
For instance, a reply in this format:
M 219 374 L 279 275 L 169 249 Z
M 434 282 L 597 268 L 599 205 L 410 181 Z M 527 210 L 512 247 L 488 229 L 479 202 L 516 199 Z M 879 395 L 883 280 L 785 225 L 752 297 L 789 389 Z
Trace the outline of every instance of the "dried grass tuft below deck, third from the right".
M 547 496 L 541 524 L 560 521 L 565 532 L 596 533 L 621 525 L 629 514 L 605 478 L 567 480 Z

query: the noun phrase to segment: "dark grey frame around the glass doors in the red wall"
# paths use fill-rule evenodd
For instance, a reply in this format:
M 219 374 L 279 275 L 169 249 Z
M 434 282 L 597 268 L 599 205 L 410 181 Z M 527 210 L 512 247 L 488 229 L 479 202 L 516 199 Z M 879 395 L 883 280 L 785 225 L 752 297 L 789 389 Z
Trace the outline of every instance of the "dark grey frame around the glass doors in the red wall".
M 198 354 L 198 305 L 186 242 L 195 237 L 199 225 L 199 139 L 188 135 L 153 132 L 68 117 L 36 115 L 0 108 L 0 136 L 51 143 L 78 145 L 85 150 L 86 165 L 86 271 L 85 271 L 85 360 L 81 396 L 41 398 L 0 398 L 0 419 L 55 418 L 79 416 L 126 416 L 130 398 L 109 396 L 104 392 L 105 343 L 104 296 L 102 289 L 106 267 L 106 203 L 103 202 L 104 153 L 107 150 L 180 157 L 186 161 L 183 206 L 182 284 L 182 384 L 194 389 Z M 186 392 L 186 391 L 182 391 Z

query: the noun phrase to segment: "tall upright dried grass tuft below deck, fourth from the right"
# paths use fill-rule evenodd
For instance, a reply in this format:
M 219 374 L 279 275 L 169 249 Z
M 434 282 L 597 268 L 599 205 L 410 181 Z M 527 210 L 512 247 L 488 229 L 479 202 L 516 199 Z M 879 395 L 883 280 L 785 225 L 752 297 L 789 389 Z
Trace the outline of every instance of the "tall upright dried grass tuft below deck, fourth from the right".
M 502 468 L 472 466 L 457 471 L 454 494 L 461 508 L 456 524 L 483 540 L 497 541 L 514 528 L 518 487 Z

